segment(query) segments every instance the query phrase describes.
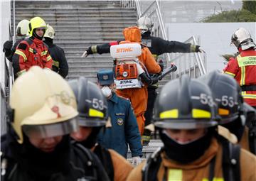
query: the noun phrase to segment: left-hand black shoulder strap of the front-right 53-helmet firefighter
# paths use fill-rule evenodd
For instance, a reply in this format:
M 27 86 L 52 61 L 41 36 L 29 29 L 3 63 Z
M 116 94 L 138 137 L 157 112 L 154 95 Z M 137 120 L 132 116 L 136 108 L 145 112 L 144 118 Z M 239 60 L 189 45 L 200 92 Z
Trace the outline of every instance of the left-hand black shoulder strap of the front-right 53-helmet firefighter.
M 144 167 L 142 168 L 142 181 L 156 181 L 157 172 L 161 165 L 162 148 L 158 148 L 150 155 Z

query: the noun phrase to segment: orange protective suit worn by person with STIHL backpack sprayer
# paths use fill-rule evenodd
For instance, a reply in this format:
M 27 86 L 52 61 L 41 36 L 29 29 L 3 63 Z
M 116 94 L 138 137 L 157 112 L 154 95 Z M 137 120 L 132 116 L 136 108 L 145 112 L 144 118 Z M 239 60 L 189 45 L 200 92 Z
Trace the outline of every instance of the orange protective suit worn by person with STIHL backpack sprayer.
M 141 34 L 139 28 L 132 26 L 125 28 L 123 31 L 125 41 L 122 43 L 141 43 Z M 154 56 L 149 51 L 149 48 L 142 47 L 142 55 L 139 56 L 139 61 L 141 61 L 147 71 L 152 74 L 161 72 L 161 67 L 157 64 Z M 133 89 L 117 89 L 117 94 L 121 97 L 128 98 L 134 109 L 134 114 L 137 119 L 137 124 L 139 127 L 139 133 L 142 135 L 144 132 L 144 112 L 146 111 L 147 104 L 147 89 L 146 85 L 142 88 Z

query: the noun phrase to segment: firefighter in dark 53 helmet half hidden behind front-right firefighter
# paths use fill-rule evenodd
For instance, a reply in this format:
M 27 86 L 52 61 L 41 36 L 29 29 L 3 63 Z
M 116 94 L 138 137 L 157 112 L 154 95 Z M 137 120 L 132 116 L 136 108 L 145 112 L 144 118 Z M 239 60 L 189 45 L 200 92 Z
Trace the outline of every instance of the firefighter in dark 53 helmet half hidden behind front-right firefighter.
M 219 124 L 235 134 L 242 148 L 256 153 L 256 136 L 253 133 L 254 123 L 252 123 L 255 118 L 247 116 L 250 106 L 243 103 L 239 84 L 232 77 L 223 75 L 217 70 L 198 79 L 208 84 L 213 93 L 213 101 L 218 106 L 217 112 L 220 116 Z M 253 108 L 251 109 L 253 113 Z M 245 126 L 246 123 L 250 129 Z

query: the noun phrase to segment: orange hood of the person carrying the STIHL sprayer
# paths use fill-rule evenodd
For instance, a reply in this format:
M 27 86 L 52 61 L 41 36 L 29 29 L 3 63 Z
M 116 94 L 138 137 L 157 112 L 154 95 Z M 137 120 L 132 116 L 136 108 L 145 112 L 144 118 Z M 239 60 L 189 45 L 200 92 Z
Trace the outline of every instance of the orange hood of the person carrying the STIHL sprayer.
M 123 31 L 123 34 L 124 34 L 124 39 L 129 40 L 131 42 L 141 42 L 142 40 L 142 35 L 140 34 L 140 30 L 136 26 L 125 28 Z

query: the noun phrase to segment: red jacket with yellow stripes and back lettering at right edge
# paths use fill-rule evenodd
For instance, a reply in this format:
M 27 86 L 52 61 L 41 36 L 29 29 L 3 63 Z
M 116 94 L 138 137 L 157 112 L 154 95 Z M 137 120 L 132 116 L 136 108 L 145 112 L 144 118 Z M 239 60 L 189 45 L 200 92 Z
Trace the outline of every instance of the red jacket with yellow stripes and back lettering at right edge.
M 256 50 L 240 50 L 237 57 L 231 57 L 228 65 L 223 70 L 233 76 L 240 86 L 256 86 Z M 247 104 L 256 106 L 256 91 L 242 91 L 242 97 Z

